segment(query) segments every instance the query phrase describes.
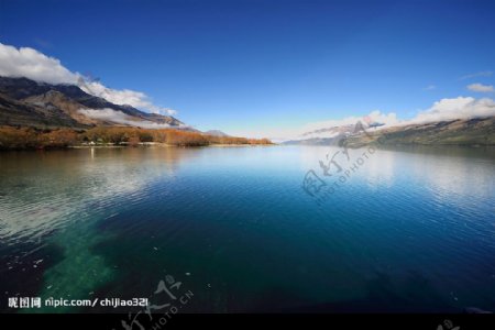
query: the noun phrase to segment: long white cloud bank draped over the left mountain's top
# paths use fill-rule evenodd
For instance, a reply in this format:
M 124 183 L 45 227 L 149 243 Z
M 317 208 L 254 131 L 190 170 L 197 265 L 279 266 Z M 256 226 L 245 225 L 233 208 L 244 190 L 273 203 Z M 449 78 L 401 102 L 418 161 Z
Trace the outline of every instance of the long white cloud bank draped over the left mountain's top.
M 81 74 L 73 73 L 64 67 L 57 58 L 30 47 L 15 48 L 0 43 L 0 76 L 25 77 L 48 84 L 78 85 L 84 91 L 116 105 L 129 105 L 161 114 L 177 114 L 176 110 L 154 105 L 144 92 L 112 89 L 99 81 L 88 81 Z

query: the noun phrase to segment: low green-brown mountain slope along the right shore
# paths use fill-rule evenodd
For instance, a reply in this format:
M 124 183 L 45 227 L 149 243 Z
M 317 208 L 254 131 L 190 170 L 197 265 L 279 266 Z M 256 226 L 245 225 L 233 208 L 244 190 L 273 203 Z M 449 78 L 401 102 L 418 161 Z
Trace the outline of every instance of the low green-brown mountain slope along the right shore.
M 495 145 L 495 117 L 397 125 L 349 136 L 346 145 Z

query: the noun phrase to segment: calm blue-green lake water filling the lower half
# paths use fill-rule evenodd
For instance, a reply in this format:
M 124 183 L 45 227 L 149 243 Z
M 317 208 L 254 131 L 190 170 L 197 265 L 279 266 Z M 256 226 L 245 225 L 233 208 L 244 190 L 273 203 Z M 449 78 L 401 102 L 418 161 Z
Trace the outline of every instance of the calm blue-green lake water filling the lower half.
M 0 308 L 147 297 L 187 312 L 495 311 L 494 150 L 351 150 L 324 176 L 337 151 L 1 153 Z

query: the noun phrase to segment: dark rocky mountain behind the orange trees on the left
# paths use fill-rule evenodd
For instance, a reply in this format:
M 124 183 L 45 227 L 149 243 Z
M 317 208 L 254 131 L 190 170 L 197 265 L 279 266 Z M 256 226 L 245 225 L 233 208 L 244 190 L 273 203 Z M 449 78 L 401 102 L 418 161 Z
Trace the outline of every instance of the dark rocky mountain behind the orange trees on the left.
M 131 106 L 114 105 L 89 95 L 75 85 L 51 85 L 11 77 L 0 77 L 0 125 L 185 127 L 172 116 L 147 113 Z

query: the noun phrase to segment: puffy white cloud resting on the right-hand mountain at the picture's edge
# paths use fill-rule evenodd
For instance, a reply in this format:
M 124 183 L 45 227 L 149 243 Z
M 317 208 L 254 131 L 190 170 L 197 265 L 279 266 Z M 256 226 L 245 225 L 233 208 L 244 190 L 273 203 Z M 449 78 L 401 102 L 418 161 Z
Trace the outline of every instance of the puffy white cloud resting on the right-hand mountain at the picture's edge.
M 480 117 L 495 116 L 495 101 L 488 98 L 475 99 L 471 97 L 458 97 L 454 99 L 441 99 L 433 106 L 421 111 L 413 120 L 402 122 L 428 123 L 454 119 L 472 119 Z

